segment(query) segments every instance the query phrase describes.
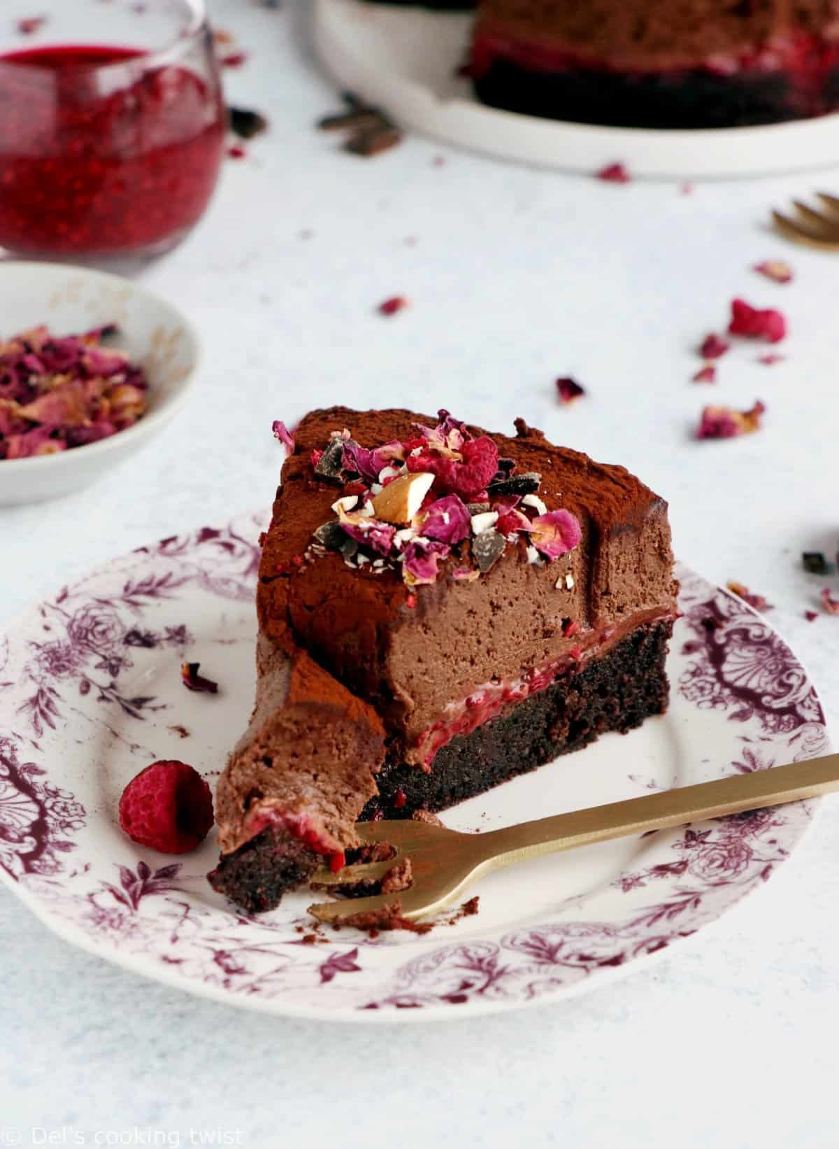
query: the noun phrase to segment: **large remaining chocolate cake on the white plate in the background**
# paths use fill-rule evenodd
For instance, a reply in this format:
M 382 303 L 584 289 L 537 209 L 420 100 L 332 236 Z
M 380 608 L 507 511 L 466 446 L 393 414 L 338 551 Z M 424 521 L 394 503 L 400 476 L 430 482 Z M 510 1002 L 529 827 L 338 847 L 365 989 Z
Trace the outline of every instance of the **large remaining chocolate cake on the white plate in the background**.
M 480 0 L 472 75 L 498 108 L 724 128 L 839 108 L 836 0 Z

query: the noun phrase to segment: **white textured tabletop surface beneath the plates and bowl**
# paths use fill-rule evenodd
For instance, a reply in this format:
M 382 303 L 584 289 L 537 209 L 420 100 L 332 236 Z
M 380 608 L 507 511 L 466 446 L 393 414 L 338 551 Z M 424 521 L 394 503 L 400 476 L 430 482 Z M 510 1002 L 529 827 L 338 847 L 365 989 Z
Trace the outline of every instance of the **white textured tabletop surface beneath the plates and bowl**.
M 304 7 L 213 5 L 253 52 L 228 74 L 231 95 L 273 130 L 228 164 L 200 230 L 142 273 L 203 334 L 202 377 L 110 483 L 0 512 L 0 626 L 102 558 L 266 503 L 280 465 L 272 418 L 337 401 L 445 404 L 499 429 L 522 414 L 640 472 L 668 496 L 687 563 L 776 603 L 836 730 L 839 619 L 805 622 L 821 584 L 798 556 L 832 553 L 839 535 L 839 261 L 763 229 L 769 206 L 808 180 L 683 195 L 457 153 L 437 167 L 441 149 L 421 139 L 355 160 L 311 130 L 336 100 L 302 46 Z M 831 184 L 839 170 L 818 177 Z M 772 255 L 794 263 L 794 284 L 749 271 Z M 380 318 L 397 293 L 411 309 Z M 738 293 L 786 310 L 788 361 L 766 368 L 758 348 L 738 348 L 716 387 L 690 384 L 694 342 Z M 572 409 L 554 402 L 564 373 L 590 391 Z M 702 402 L 759 395 L 760 434 L 690 440 Z M 0 890 L 0 1128 L 24 1144 L 47 1143 L 32 1127 L 59 1144 L 94 1144 L 96 1131 L 99 1143 L 155 1143 L 140 1140 L 150 1131 L 189 1144 L 191 1127 L 220 1127 L 228 1143 L 238 1131 L 241 1144 L 289 1149 L 826 1149 L 837 873 L 834 800 L 760 895 L 655 969 L 560 1008 L 375 1032 L 263 1020 L 147 984 L 72 950 Z

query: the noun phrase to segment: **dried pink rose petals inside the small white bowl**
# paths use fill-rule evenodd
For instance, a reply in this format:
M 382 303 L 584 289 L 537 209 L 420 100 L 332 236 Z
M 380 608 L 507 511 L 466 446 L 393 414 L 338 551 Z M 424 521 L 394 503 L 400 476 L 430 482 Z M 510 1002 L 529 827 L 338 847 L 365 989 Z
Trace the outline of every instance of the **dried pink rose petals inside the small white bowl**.
M 56 337 L 39 326 L 0 342 L 0 460 L 84 447 L 142 417 L 142 369 L 102 347 L 115 332 Z

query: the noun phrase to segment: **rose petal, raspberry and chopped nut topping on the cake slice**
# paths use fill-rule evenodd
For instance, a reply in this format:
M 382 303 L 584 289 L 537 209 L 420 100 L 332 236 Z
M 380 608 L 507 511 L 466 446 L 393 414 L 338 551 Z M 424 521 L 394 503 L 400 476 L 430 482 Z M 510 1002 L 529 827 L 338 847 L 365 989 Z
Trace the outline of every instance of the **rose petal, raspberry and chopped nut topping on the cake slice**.
M 414 424 L 410 439 L 373 449 L 334 431 L 312 452 L 316 477 L 345 493 L 333 503 L 337 517 L 314 532 L 308 556 L 340 552 L 349 566 L 374 574 L 401 569 L 407 586 L 421 586 L 436 581 L 450 555 L 452 578 L 472 581 L 519 540 L 538 565 L 578 545 L 577 518 L 547 510 L 539 475 L 515 473 L 489 435 L 473 435 L 445 410 L 438 418 L 435 427 Z

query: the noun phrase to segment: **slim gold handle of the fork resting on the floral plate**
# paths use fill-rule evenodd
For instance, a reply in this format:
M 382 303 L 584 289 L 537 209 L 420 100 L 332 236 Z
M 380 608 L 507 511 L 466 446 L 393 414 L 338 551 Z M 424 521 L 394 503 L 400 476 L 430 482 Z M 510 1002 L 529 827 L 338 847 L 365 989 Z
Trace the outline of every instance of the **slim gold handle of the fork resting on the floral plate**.
M 839 754 L 506 826 L 477 839 L 494 866 L 839 789 Z

